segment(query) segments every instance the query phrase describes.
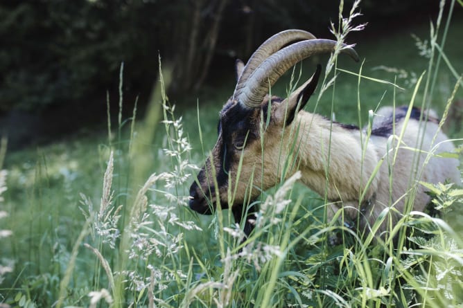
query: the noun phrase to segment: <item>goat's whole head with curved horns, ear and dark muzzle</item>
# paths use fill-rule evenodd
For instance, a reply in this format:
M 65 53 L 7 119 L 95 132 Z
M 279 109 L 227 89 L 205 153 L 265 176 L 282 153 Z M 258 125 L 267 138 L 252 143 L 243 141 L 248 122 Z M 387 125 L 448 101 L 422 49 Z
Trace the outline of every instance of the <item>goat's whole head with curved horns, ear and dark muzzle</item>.
M 321 66 L 284 100 L 270 98 L 268 91 L 292 66 L 311 55 L 330 53 L 336 44 L 303 30 L 286 30 L 265 41 L 246 65 L 236 62 L 238 82 L 220 111 L 217 143 L 191 185 L 191 209 L 211 214 L 220 203 L 221 208 L 231 207 L 239 222 L 243 203 L 278 183 L 282 132 L 315 91 Z M 349 46 L 341 50 L 358 60 Z

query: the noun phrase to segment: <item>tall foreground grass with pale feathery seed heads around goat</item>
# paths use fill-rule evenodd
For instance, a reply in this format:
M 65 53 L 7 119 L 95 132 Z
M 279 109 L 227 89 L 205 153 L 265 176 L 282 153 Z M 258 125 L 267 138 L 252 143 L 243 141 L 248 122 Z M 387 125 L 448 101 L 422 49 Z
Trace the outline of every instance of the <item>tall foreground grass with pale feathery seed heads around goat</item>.
M 339 43 L 349 32 L 362 28 L 353 25 L 359 3 L 355 1 L 344 18 L 344 2 L 340 2 L 338 26 L 332 26 Z M 457 79 L 444 107 L 444 123 L 461 78 L 444 53 L 445 33 L 450 27 L 455 1 L 446 6 L 445 1 L 441 4 L 439 18 L 431 24 L 430 44 L 420 45 L 421 51 L 426 51 L 428 70 L 416 78 L 409 105 L 420 105 L 421 98 L 421 105 L 429 106 L 437 69 L 444 60 Z M 443 26 L 445 17 L 448 21 Z M 438 43 L 440 33 L 444 35 Z M 362 125 L 363 83 L 388 83 L 394 89 L 399 86 L 370 78 L 362 71 L 363 66 L 355 73 L 338 68 L 341 46 L 338 44 L 329 59 L 313 108 L 316 111 L 322 95 L 333 91 L 333 114 L 338 74 L 355 75 L 358 124 Z M 0 280 L 6 282 L 1 284 L 0 307 L 463 305 L 463 242 L 459 236 L 462 226 L 457 219 L 462 215 L 463 192 L 458 188 L 461 183 L 411 183 L 411 188 L 426 185 L 434 197 L 433 209 L 442 217 L 414 212 L 412 189 L 410 196 L 406 196 L 408 210 L 391 226 L 390 233 L 396 237 L 379 240 L 340 224 L 341 212 L 332 221 L 326 221 L 329 200 L 302 188 L 297 183 L 299 172 L 286 176 L 285 172 L 297 169 L 297 165 L 291 158 L 281 157 L 282 168 L 286 170 L 282 172 L 281 183 L 247 204 L 259 205 L 259 211 L 256 229 L 243 243 L 242 226 L 234 223 L 229 211 L 219 208 L 213 217 L 201 217 L 188 209 L 188 187 L 198 170 L 193 161 L 202 158 L 194 158 L 189 142 L 189 136 L 193 137 L 195 132 L 186 131 L 182 118 L 176 117 L 175 106 L 166 96 L 166 85 L 171 78 L 169 68 L 161 69 L 159 64 L 159 75 L 144 118 L 137 120 L 135 107 L 132 117 L 124 121 L 121 66 L 116 134 L 112 132 L 108 108 L 108 140 L 98 147 L 99 159 L 60 169 L 39 153 L 31 173 L 34 176 L 21 177 L 13 172 L 24 187 L 30 188 L 22 197 L 24 203 L 30 203 L 30 208 L 26 214 L 13 208 L 8 210 L 12 216 L 8 226 L 18 233 L 10 236 L 8 255 L 13 256 L 16 264 L 13 271 L 11 263 L 5 266 L 3 256 L 0 260 Z M 295 85 L 292 86 L 294 89 Z M 369 113 L 371 117 L 374 110 Z M 262 123 L 265 124 L 264 118 Z M 207 156 L 204 143 L 211 138 L 203 136 L 201 127 L 205 126 L 207 123 L 200 120 L 198 111 L 198 138 L 204 157 Z M 293 134 L 297 133 L 296 128 Z M 401 134 L 396 132 L 399 142 Z M 156 136 L 164 137 L 156 140 Z M 362 138 L 367 141 L 368 129 Z M 462 139 L 455 142 L 461 143 Z M 2 145 L 0 149 L 3 148 Z M 457 150 L 460 161 L 462 149 L 460 146 Z M 3 156 L 0 150 L 0 169 Z M 63 159 L 70 160 L 67 156 Z M 64 185 L 60 204 L 47 208 L 46 203 L 51 200 L 48 188 L 58 181 L 52 175 L 55 169 L 68 184 Z M 79 173 L 80 169 L 85 172 Z M 101 174 L 99 183 L 91 176 L 93 170 Z M 6 188 L 5 176 L 6 172 L 0 172 L 0 194 Z M 76 185 L 71 179 L 79 176 L 81 193 L 69 195 L 68 188 L 73 191 L 71 185 Z M 97 195 L 92 195 L 94 186 L 101 187 Z M 44 213 L 44 208 L 52 210 Z M 1 224 L 7 211 L 0 209 Z M 390 219 L 393 207 L 390 211 L 378 217 L 373 230 Z M 64 212 L 69 215 L 63 215 Z M 30 225 L 19 228 L 14 221 Z M 342 237 L 342 244 L 329 244 L 333 233 Z M 0 241 L 6 242 L 6 238 L 0 236 Z M 23 253 L 24 250 L 28 252 Z M 51 260 L 44 255 L 51 256 Z

